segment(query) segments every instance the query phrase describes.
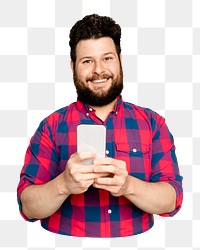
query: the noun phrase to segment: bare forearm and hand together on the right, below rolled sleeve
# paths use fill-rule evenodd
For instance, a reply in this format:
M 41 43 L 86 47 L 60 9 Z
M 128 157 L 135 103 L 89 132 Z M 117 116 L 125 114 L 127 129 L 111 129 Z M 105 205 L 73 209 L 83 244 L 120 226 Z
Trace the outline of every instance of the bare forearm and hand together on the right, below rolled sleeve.
M 96 159 L 94 172 L 110 174 L 106 178 L 95 179 L 95 188 L 107 190 L 116 197 L 124 196 L 147 213 L 169 213 L 176 207 L 176 192 L 172 185 L 167 182 L 151 183 L 130 176 L 124 161 Z

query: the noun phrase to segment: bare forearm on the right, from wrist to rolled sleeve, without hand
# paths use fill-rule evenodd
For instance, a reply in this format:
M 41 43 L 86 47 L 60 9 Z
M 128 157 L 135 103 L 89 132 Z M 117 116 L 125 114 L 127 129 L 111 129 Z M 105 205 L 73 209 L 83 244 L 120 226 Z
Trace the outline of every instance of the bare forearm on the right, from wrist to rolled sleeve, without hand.
M 166 182 L 150 183 L 128 176 L 124 195 L 137 207 L 151 214 L 169 213 L 175 209 L 175 189 Z

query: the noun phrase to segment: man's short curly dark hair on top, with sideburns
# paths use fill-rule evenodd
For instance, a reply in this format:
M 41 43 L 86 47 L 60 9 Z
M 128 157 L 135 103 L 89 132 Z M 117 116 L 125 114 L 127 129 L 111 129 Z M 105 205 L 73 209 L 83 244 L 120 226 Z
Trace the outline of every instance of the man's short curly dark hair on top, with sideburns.
M 93 14 L 85 16 L 76 22 L 69 34 L 71 60 L 74 63 L 76 62 L 76 46 L 80 40 L 98 39 L 102 37 L 110 37 L 113 39 L 119 56 L 121 52 L 121 28 L 112 18 Z

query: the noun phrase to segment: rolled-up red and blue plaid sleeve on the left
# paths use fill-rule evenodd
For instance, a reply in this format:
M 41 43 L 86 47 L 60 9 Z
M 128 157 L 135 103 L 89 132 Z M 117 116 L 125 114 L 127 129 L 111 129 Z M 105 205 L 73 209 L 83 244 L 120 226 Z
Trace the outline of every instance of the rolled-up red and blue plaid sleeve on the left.
M 55 178 L 58 165 L 58 153 L 53 143 L 53 134 L 50 126 L 44 121 L 31 138 L 25 154 L 24 166 L 21 170 L 20 181 L 17 187 L 17 200 L 22 217 L 29 220 L 22 212 L 20 195 L 30 185 L 41 185 Z

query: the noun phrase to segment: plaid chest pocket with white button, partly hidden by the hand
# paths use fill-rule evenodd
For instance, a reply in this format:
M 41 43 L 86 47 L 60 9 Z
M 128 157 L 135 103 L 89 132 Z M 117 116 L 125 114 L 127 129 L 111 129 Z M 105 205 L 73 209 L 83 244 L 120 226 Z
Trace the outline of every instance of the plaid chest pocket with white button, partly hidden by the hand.
M 151 145 L 140 142 L 116 143 L 116 158 L 126 162 L 128 173 L 148 181 L 151 174 Z

